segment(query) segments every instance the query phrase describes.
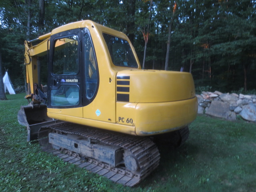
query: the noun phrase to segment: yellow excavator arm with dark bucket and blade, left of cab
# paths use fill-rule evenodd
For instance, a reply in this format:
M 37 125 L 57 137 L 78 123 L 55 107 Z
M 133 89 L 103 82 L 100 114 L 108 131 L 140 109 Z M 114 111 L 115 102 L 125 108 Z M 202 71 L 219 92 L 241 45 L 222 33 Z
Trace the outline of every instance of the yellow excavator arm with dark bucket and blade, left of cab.
M 25 62 L 26 80 L 28 83 L 28 94 L 25 98 L 31 102 L 26 106 L 21 106 L 18 111 L 18 122 L 27 127 L 27 141 L 38 138 L 38 130 L 41 126 L 57 122 L 47 116 L 46 98 L 38 85 L 38 65 L 37 58 L 47 54 L 48 40 L 51 33 L 40 36 L 31 41 L 25 41 Z M 42 42 L 32 45 L 32 42 L 43 40 Z

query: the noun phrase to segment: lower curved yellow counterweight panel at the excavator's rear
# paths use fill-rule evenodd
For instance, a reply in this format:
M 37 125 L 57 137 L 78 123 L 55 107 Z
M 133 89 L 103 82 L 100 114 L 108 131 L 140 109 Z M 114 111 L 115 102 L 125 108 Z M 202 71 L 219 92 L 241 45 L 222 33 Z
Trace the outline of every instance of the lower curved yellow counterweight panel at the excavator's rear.
M 136 134 L 154 135 L 181 128 L 195 120 L 197 98 L 176 102 L 138 103 L 136 105 Z

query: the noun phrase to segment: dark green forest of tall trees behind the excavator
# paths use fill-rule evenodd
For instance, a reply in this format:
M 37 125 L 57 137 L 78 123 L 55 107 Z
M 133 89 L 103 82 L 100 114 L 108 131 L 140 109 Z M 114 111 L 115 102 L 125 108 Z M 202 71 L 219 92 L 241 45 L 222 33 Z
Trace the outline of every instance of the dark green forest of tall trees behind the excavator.
M 127 34 L 145 69 L 191 72 L 198 92 L 256 92 L 256 0 L 1 0 L 0 76 L 24 85 L 24 40 L 87 19 Z

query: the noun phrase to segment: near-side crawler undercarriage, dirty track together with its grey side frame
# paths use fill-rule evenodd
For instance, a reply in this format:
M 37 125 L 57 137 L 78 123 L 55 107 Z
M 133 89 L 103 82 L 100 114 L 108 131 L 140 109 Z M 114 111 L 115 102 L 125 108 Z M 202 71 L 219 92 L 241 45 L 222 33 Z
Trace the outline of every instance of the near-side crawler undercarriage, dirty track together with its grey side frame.
M 38 140 L 42 150 L 126 186 L 138 184 L 160 161 L 158 148 L 148 137 L 69 122 L 43 126 Z

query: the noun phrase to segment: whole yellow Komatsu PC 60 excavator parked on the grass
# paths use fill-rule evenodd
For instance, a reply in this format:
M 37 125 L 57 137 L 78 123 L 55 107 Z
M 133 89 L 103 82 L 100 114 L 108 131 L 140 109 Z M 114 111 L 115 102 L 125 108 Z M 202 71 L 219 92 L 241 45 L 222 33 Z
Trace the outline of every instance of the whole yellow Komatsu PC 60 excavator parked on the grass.
M 37 58 L 46 54 L 44 94 Z M 197 115 L 190 73 L 142 70 L 125 34 L 90 20 L 25 41 L 25 65 L 31 102 L 18 121 L 27 140 L 126 186 L 159 165 L 155 141 L 180 146 Z

